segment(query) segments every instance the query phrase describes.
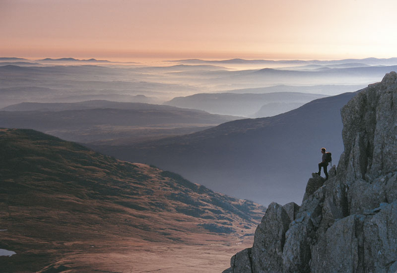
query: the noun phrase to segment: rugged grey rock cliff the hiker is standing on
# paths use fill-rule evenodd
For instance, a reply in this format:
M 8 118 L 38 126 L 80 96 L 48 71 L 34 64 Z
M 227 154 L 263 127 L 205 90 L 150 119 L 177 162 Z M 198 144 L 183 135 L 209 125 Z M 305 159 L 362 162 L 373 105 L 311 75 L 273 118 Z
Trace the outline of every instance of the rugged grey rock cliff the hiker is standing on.
M 254 245 L 224 273 L 397 272 L 397 74 L 341 110 L 344 152 L 302 205 L 268 206 Z

